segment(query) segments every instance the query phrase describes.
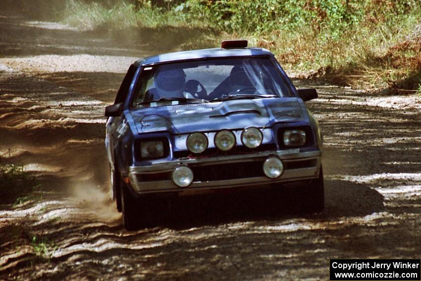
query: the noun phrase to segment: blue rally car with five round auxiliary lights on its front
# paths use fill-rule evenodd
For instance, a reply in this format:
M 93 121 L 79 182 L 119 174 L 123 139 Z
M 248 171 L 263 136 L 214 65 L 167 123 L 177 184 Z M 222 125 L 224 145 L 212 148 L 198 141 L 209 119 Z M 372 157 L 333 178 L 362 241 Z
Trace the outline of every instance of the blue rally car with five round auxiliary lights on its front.
M 321 135 L 304 104 L 314 98 L 245 40 L 135 61 L 105 109 L 124 227 L 147 224 L 152 198 L 225 188 L 292 185 L 303 210 L 322 211 Z

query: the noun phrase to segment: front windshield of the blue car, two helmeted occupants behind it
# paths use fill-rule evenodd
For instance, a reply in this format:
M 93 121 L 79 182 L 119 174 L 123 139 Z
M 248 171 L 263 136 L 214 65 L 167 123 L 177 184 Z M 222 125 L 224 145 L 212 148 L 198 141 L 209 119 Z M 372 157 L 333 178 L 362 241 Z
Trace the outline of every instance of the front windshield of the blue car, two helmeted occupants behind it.
M 133 107 L 289 96 L 269 58 L 218 58 L 145 66 Z

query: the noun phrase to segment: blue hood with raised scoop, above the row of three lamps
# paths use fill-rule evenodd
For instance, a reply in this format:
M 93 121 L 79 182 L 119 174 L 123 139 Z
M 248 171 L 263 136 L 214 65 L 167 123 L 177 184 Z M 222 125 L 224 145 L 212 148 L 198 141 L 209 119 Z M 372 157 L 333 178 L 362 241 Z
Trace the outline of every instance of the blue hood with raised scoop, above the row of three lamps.
M 207 104 L 150 107 L 130 112 L 137 132 L 184 134 L 245 127 L 270 127 L 304 118 L 297 98 L 231 100 Z

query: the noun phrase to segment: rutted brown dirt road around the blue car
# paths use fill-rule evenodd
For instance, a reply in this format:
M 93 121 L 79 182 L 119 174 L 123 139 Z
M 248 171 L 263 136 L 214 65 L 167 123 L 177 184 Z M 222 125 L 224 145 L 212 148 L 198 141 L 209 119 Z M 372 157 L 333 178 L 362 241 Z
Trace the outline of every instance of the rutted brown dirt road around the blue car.
M 327 280 L 330 258 L 421 258 L 420 99 L 320 84 L 323 213 L 198 199 L 124 230 L 103 112 L 129 64 L 160 51 L 125 36 L 0 12 L 0 161 L 41 183 L 1 206 L 1 280 Z

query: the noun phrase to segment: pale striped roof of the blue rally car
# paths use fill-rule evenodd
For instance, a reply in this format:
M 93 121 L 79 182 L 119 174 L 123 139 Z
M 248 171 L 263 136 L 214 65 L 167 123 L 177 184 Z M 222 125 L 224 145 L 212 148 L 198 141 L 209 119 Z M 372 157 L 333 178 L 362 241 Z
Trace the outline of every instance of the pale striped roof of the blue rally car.
M 137 60 L 134 65 L 141 66 L 161 62 L 180 61 L 188 59 L 201 59 L 206 57 L 229 57 L 229 56 L 264 56 L 272 55 L 263 48 L 241 48 L 241 49 L 203 49 L 148 56 Z

